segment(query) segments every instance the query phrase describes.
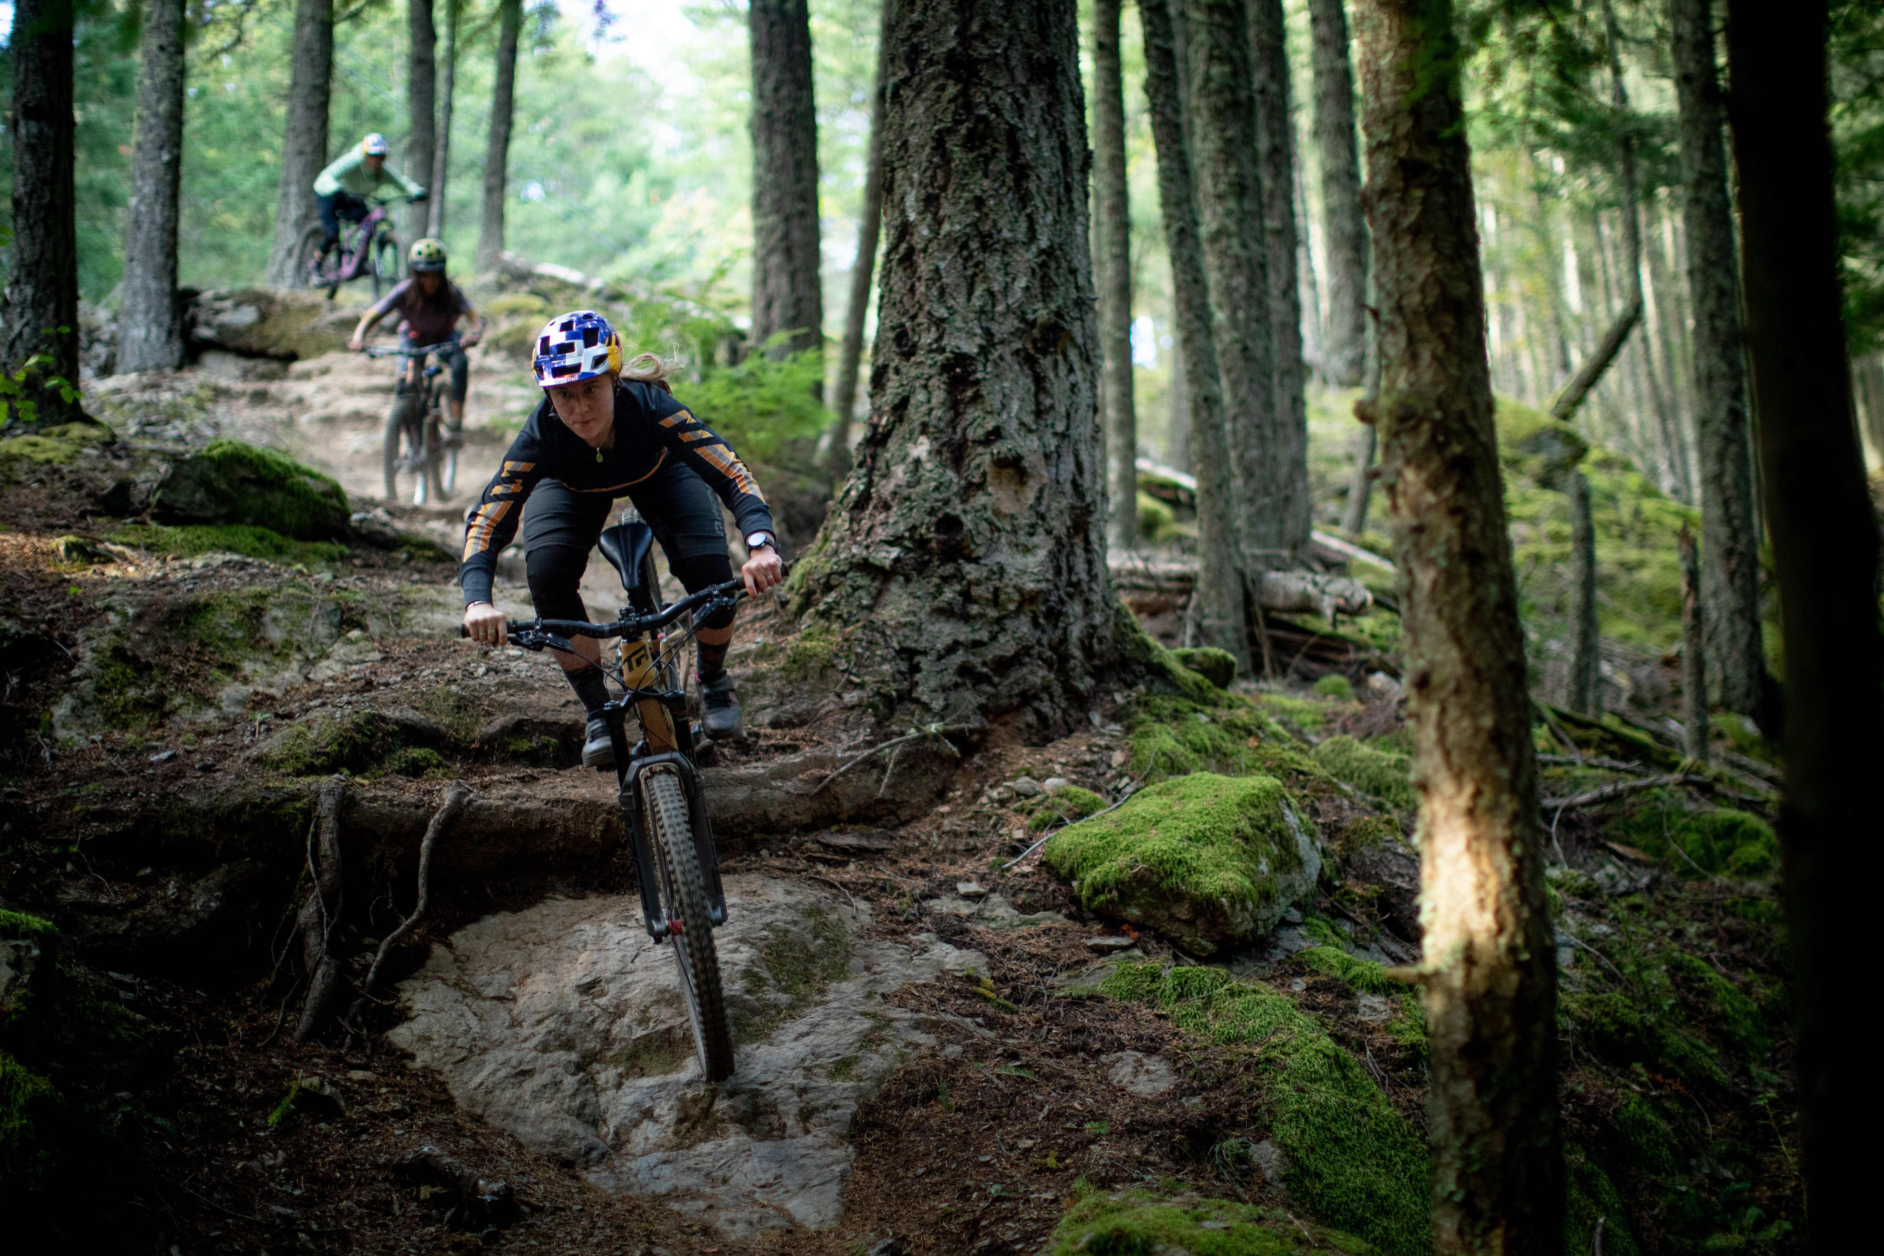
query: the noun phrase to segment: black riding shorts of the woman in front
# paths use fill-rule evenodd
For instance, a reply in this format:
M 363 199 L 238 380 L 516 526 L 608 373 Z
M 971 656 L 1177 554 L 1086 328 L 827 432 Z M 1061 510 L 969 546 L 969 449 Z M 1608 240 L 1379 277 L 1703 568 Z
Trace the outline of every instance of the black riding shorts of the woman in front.
M 654 527 L 669 571 L 688 593 L 733 578 L 720 499 L 691 467 L 663 461 L 646 480 L 627 488 L 627 499 Z M 577 586 L 582 584 L 588 556 L 609 525 L 612 507 L 609 493 L 578 493 L 561 480 L 539 480 L 529 493 L 520 529 L 524 571 L 529 576 L 529 601 L 544 620 L 588 620 Z M 731 625 L 731 610 L 699 621 L 699 627 L 710 629 Z

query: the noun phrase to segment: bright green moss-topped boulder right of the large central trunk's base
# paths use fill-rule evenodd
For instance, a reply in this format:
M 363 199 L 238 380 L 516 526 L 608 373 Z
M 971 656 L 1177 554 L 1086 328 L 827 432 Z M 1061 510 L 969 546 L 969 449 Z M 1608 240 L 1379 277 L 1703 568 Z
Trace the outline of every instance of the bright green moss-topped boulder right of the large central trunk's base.
M 1046 845 L 1087 911 L 1213 955 L 1266 934 L 1315 887 L 1321 845 L 1281 781 L 1196 772 L 1151 785 Z

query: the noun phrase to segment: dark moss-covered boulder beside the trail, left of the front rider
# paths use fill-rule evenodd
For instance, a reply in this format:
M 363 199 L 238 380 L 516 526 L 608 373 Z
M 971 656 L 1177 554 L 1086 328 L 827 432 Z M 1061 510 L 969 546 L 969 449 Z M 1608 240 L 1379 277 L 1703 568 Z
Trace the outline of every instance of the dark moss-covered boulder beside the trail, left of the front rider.
M 339 480 L 241 441 L 173 463 L 151 508 L 171 523 L 245 523 L 294 540 L 345 540 L 350 516 Z

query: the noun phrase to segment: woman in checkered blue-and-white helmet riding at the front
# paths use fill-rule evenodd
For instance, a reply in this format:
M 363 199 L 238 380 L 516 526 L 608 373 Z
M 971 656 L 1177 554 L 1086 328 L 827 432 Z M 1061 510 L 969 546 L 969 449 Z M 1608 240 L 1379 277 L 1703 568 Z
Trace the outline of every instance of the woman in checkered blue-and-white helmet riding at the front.
M 772 512 L 757 480 L 731 444 L 674 399 L 665 362 L 641 354 L 624 367 L 622 337 L 607 318 L 580 309 L 544 324 L 533 367 L 544 397 L 465 523 L 460 582 L 471 638 L 490 646 L 505 640 L 503 612 L 492 606 L 490 589 L 518 516 L 537 614 L 588 620 L 577 586 L 612 501 L 624 495 L 654 529 L 667 567 L 690 593 L 733 578 L 722 501 L 746 540 L 746 589 L 757 597 L 784 578 Z M 701 727 L 712 738 L 739 733 L 739 695 L 725 672 L 733 614 L 708 616 L 695 633 Z M 556 661 L 588 712 L 582 765 L 609 766 L 614 749 L 599 714 L 609 700 L 601 644 L 592 636 L 573 644 L 577 653 L 556 652 Z

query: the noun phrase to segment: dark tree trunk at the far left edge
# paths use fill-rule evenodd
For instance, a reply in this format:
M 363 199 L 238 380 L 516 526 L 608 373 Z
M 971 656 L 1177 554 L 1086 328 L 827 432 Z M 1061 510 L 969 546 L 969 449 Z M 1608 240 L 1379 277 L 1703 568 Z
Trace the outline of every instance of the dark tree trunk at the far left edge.
M 19 403 L 41 424 L 77 418 L 60 386 L 79 384 L 79 239 L 72 186 L 72 2 L 13 8 L 13 249 L 0 367 L 21 369 Z M 34 365 L 26 365 L 28 362 Z M 13 414 L 9 414 L 11 418 Z M 24 411 L 19 412 L 24 418 Z

